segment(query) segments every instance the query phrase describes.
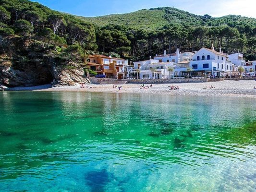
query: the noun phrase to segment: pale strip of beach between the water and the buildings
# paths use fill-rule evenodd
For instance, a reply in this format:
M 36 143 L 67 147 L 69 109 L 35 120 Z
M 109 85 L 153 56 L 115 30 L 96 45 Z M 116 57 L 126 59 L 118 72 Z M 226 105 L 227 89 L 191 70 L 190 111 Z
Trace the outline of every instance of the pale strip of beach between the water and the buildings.
M 104 93 L 146 93 L 146 94 L 169 94 L 183 96 L 235 96 L 256 98 L 256 81 L 230 81 L 207 82 L 207 83 L 182 83 L 172 84 L 179 86 L 179 90 L 169 90 L 171 84 L 153 84 L 149 88 L 141 88 L 141 84 L 123 84 L 121 90 L 113 88 L 113 84 L 89 84 L 87 88 L 80 86 L 51 87 L 50 85 L 41 85 L 34 87 L 15 87 L 10 91 L 77 91 L 77 92 L 104 92 Z M 215 88 L 209 89 L 206 86 Z M 149 84 L 145 84 L 149 86 Z M 92 87 L 92 88 L 90 88 Z

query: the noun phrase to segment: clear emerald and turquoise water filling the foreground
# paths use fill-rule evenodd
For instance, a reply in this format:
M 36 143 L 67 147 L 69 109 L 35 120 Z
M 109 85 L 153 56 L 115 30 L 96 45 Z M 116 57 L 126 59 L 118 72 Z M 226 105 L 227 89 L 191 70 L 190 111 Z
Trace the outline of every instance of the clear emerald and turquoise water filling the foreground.
M 0 93 L 0 191 L 256 190 L 256 99 Z

